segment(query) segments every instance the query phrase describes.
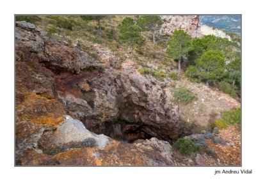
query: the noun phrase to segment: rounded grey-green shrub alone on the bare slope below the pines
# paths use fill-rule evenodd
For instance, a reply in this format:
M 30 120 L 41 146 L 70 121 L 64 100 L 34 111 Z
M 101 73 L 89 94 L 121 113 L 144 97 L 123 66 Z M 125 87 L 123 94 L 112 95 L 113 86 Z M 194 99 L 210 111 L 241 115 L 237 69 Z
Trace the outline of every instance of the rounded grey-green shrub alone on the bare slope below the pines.
M 174 102 L 181 102 L 182 104 L 186 105 L 196 98 L 197 97 L 194 93 L 191 93 L 191 91 L 183 87 L 177 88 L 173 91 Z

